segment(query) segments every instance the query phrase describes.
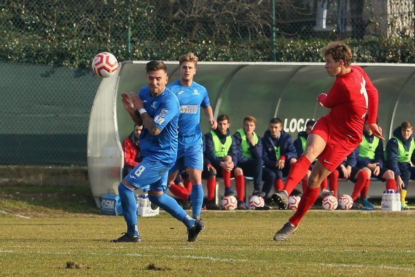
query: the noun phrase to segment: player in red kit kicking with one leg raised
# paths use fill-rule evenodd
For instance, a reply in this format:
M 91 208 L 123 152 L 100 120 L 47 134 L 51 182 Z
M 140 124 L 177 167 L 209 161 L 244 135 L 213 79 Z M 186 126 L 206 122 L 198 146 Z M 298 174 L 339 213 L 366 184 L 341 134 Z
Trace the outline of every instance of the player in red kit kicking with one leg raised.
M 306 190 L 297 211 L 274 236 L 276 241 L 287 240 L 297 230 L 299 221 L 313 206 L 323 179 L 362 141 L 365 117 L 375 136 L 382 138 L 382 129 L 376 124 L 378 115 L 378 90 L 360 66 L 352 66 L 351 49 L 342 42 L 333 42 L 322 49 L 326 60 L 324 68 L 335 77 L 329 93 L 322 93 L 317 101 L 331 109 L 315 123 L 307 138 L 306 150 L 293 165 L 284 190 L 277 193 L 280 202 L 288 202 L 298 182 L 306 175 L 312 161 L 318 160 L 311 170 Z

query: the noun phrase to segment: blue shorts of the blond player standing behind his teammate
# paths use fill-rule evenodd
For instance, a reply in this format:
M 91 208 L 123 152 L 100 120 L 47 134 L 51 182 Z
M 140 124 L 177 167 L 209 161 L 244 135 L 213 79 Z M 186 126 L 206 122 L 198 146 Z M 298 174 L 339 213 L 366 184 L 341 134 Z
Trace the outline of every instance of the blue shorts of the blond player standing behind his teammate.
M 176 163 L 174 163 L 170 172 L 175 172 L 185 167 L 203 170 L 203 145 L 178 145 Z

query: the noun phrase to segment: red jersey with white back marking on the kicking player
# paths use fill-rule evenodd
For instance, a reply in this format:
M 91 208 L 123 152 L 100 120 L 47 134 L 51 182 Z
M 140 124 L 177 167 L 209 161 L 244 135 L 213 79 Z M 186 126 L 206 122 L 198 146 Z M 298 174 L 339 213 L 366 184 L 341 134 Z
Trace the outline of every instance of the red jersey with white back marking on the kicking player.
M 378 89 L 360 66 L 350 66 L 350 73 L 335 79 L 327 97 L 320 100 L 331 108 L 324 116 L 340 134 L 362 141 L 365 116 L 368 123 L 376 123 L 378 116 Z

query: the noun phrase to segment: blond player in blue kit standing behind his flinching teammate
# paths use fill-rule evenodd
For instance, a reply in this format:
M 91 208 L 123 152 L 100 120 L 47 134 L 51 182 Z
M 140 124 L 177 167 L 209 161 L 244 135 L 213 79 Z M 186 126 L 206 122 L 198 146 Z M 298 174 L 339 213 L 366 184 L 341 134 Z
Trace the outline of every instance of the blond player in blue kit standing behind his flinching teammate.
M 209 120 L 210 127 L 216 129 L 217 125 L 213 118 L 212 107 L 210 107 L 208 91 L 193 80 L 198 60 L 199 58 L 194 53 L 182 55 L 178 60 L 180 78 L 167 86 L 176 93 L 178 102 L 180 102 L 177 161 L 169 172 L 168 184 L 176 178 L 179 169 L 187 168 L 192 182 L 192 192 L 190 193 L 192 215 L 196 219 L 200 218 L 203 204 L 203 145 L 199 124 L 201 108 Z M 210 207 L 212 208 L 212 205 Z M 212 209 L 219 209 L 219 206 L 216 207 Z

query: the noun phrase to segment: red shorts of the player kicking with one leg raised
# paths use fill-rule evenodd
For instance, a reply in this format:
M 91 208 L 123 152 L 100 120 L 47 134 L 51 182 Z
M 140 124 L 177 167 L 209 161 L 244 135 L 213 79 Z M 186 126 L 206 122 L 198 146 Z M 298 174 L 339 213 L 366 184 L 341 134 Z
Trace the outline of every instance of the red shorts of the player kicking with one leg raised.
M 317 159 L 324 168 L 332 172 L 358 147 L 361 141 L 361 138 L 353 138 L 344 134 L 325 117 L 317 120 L 311 134 L 317 134 L 326 141 L 326 147 Z

